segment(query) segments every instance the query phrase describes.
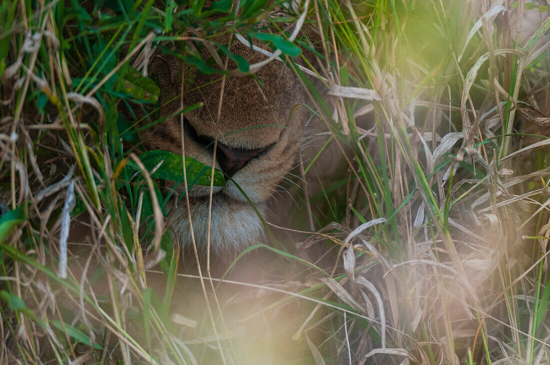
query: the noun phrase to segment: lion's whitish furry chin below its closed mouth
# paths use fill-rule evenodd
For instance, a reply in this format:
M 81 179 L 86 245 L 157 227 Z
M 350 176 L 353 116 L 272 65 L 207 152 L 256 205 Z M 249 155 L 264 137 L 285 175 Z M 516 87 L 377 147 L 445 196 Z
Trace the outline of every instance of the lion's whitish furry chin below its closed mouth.
M 208 244 L 214 255 L 221 255 L 236 252 L 263 241 L 262 222 L 250 204 L 229 199 L 223 194 L 214 194 L 210 217 L 210 238 L 208 237 L 208 198 L 190 197 L 189 204 L 188 210 L 186 201 L 181 201 L 173 220 L 174 232 L 177 232 L 174 234 L 174 242 L 180 242 L 184 249 L 193 249 L 193 238 L 201 255 L 206 253 Z M 256 204 L 256 209 L 263 215 L 265 204 Z

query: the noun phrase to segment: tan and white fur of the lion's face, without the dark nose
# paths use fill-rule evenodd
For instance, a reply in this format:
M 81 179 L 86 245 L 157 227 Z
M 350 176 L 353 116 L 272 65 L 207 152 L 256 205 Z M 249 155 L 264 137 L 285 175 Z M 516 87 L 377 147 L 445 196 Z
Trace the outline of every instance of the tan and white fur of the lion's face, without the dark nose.
M 217 40 L 228 44 L 227 38 Z M 257 46 L 267 48 L 261 43 Z M 265 55 L 251 50 L 233 39 L 233 53 L 243 55 L 249 63 L 264 60 Z M 207 55 L 206 49 L 201 54 Z M 236 68 L 233 61 L 229 69 Z M 173 115 L 183 107 L 203 103 L 184 116 L 200 137 L 215 139 L 226 149 L 267 150 L 251 159 L 233 175 L 234 181 L 263 214 L 286 173 L 295 166 L 295 157 L 303 139 L 303 126 L 309 118 L 305 106 L 307 94 L 299 80 L 284 63 L 274 60 L 255 76 L 227 76 L 222 94 L 222 75 L 200 74 L 186 66 L 182 60 L 167 55 L 155 57 L 149 66 L 150 72 L 158 75 L 161 87 L 161 117 Z M 182 78 L 184 82 L 183 98 Z M 263 84 L 263 85 L 262 85 Z M 219 99 L 222 98 L 218 120 Z M 212 165 L 213 154 L 197 144 L 180 127 L 180 116 L 171 117 L 160 125 L 140 134 L 147 149 L 163 149 L 182 154 L 182 134 L 185 155 Z M 221 166 L 216 162 L 217 169 Z M 184 192 L 183 184 L 176 189 Z M 190 189 L 190 211 L 194 236 L 200 250 L 207 247 L 208 201 L 210 187 L 193 186 Z M 173 227 L 177 240 L 184 246 L 191 243 L 188 207 L 180 200 L 174 212 Z M 243 248 L 263 240 L 263 227 L 256 212 L 235 184 L 228 181 L 225 187 L 213 189 L 210 247 L 214 252 Z

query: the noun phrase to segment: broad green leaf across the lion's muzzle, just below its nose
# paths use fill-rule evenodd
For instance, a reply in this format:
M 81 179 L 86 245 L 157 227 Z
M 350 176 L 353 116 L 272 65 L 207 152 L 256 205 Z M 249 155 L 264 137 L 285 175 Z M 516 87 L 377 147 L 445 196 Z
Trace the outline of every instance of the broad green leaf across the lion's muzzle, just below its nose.
M 163 150 L 152 150 L 140 156 L 141 161 L 148 171 L 158 168 L 151 174 L 152 177 L 166 179 L 171 181 L 183 181 L 183 164 L 182 155 Z M 185 156 L 185 170 L 187 172 L 187 181 L 199 185 L 210 186 L 210 178 L 212 169 L 210 166 L 203 164 L 195 159 Z M 214 185 L 224 186 L 226 179 L 223 177 L 223 172 L 214 171 Z

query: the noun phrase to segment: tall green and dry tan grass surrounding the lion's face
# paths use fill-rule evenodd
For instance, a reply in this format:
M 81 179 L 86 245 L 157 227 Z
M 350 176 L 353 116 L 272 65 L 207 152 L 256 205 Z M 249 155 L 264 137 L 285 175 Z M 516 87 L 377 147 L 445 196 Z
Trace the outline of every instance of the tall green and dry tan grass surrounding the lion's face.
M 548 363 L 547 4 L 312 2 L 326 95 L 272 25 L 322 131 L 289 183 L 294 233 L 233 262 L 256 252 L 270 282 L 199 288 L 117 104 L 158 108 L 135 76 L 155 47 L 253 34 L 271 6 L 214 4 L 219 23 L 202 2 L 2 3 L 0 362 Z

